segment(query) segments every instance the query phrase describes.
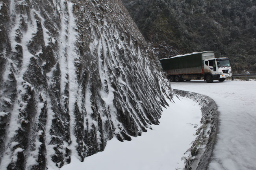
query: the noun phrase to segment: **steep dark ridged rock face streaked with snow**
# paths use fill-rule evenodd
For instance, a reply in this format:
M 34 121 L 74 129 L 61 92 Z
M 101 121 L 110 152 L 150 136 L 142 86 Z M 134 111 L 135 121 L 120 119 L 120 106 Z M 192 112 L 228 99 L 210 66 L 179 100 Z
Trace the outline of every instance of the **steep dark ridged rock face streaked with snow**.
M 81 161 L 158 124 L 170 84 L 120 0 L 3 0 L 0 169 Z

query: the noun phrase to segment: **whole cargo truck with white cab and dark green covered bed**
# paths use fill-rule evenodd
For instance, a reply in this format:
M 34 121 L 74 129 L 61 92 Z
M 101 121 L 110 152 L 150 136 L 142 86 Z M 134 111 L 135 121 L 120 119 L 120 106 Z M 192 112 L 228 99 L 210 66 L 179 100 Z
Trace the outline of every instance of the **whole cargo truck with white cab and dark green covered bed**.
M 213 51 L 163 58 L 160 59 L 160 63 L 171 82 L 191 79 L 204 79 L 208 83 L 213 80 L 223 82 L 232 76 L 228 58 L 215 58 Z

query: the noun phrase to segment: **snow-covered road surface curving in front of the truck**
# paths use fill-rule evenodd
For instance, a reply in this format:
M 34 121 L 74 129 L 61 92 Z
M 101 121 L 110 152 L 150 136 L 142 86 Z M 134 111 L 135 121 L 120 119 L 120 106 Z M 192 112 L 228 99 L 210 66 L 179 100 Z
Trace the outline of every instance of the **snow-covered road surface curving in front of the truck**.
M 211 97 L 217 104 L 219 132 L 209 170 L 256 170 L 256 82 L 172 83 L 172 88 Z

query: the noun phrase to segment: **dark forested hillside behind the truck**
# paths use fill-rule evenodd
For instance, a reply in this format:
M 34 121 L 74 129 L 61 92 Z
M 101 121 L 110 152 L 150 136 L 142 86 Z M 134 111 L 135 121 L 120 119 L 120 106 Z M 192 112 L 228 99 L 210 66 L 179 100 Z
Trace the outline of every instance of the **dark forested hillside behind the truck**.
M 122 0 L 158 58 L 196 51 L 256 73 L 256 0 Z

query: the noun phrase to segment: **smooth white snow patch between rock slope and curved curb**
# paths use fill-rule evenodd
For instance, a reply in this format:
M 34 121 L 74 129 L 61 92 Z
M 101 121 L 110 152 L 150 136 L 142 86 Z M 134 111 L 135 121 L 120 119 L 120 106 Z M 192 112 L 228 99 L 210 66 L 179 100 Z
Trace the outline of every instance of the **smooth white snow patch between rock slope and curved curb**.
M 175 103 L 174 103 L 175 102 Z M 169 101 L 163 108 L 160 125 L 152 130 L 132 137 L 132 141 L 120 142 L 116 138 L 108 141 L 103 152 L 86 157 L 83 162 L 75 156 L 61 170 L 174 170 L 185 166 L 182 157 L 195 135 L 195 124 L 200 126 L 200 106 L 187 98 Z M 50 169 L 51 170 L 51 169 Z

